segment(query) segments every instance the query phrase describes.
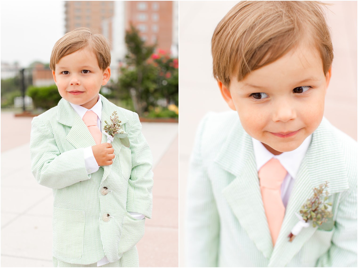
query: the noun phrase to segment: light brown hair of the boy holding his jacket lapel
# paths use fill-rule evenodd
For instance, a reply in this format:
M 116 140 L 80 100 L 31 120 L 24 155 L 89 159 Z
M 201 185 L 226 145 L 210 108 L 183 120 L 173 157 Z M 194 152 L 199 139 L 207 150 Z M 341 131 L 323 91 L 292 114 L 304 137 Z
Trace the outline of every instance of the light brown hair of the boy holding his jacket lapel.
M 64 56 L 85 47 L 93 49 L 101 70 L 111 64 L 111 51 L 108 40 L 102 34 L 94 34 L 88 28 L 77 28 L 65 34 L 55 43 L 51 57 L 50 68 L 55 70 L 55 64 Z

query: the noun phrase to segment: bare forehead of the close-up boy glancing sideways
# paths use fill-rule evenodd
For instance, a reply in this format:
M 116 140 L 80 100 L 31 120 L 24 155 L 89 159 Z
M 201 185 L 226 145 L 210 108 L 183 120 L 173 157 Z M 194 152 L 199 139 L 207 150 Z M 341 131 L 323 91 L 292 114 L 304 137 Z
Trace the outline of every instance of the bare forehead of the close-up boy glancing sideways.
M 310 77 L 322 78 L 323 62 L 318 50 L 301 44 L 281 58 L 259 69 L 253 70 L 241 81 L 250 84 L 280 84 L 287 81 L 301 81 Z

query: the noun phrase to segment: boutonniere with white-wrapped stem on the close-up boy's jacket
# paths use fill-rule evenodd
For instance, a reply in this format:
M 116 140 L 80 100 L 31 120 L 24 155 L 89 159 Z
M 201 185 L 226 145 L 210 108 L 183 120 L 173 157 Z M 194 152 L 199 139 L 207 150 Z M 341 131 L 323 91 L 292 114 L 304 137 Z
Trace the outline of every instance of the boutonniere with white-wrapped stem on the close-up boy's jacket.
M 333 216 L 331 210 L 328 210 L 329 206 L 332 206 L 332 203 L 326 203 L 328 199 L 326 188 L 328 188 L 327 181 L 324 184 L 320 184 L 318 188 L 313 188 L 313 196 L 307 199 L 306 203 L 301 207 L 301 215 L 296 213 L 299 222 L 296 223 L 288 235 L 290 242 L 301 232 L 302 228 L 307 228 L 310 225 L 309 220 L 312 221 L 312 226 L 316 227 L 317 225 L 322 225 L 328 218 Z M 323 193 L 324 190 L 325 192 Z

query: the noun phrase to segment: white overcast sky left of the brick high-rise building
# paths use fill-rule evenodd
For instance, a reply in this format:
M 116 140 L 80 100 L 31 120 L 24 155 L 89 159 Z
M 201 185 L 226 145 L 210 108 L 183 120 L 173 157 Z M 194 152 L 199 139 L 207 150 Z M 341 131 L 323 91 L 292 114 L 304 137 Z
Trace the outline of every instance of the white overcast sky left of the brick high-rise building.
M 64 1 L 1 1 L 1 62 L 50 61 L 64 35 Z

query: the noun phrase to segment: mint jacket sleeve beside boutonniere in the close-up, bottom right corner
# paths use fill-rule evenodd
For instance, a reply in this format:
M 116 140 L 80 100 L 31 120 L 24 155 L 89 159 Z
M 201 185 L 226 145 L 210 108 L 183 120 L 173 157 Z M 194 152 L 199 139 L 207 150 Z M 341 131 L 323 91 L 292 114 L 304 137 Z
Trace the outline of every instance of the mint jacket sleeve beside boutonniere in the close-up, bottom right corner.
M 357 187 L 350 189 L 337 213 L 331 247 L 316 267 L 357 267 Z

